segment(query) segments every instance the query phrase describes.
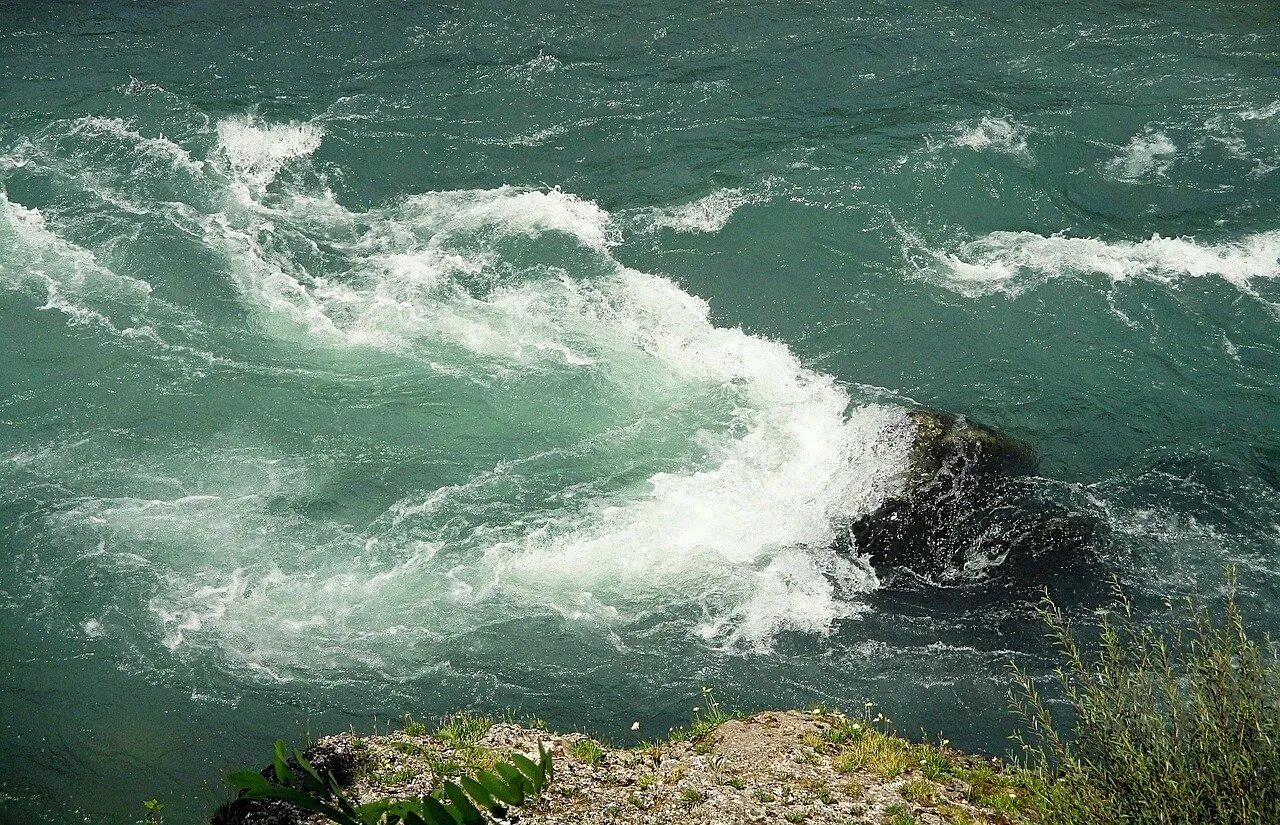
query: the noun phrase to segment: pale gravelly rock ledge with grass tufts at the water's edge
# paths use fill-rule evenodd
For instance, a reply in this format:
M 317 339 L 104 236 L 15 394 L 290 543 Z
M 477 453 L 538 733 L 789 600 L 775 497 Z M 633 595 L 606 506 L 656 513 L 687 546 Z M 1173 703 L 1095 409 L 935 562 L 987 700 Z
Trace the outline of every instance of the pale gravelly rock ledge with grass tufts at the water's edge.
M 410 723 L 383 735 L 340 734 L 308 753 L 343 774 L 357 802 L 430 793 L 511 753 L 553 753 L 556 776 L 506 821 L 563 825 L 874 822 L 910 825 L 1016 821 L 1025 802 L 1002 764 L 937 744 L 911 743 L 874 718 L 765 711 L 695 721 L 664 742 L 634 748 L 579 733 L 457 716 L 434 733 Z M 237 801 L 214 825 L 311 822 L 280 802 Z

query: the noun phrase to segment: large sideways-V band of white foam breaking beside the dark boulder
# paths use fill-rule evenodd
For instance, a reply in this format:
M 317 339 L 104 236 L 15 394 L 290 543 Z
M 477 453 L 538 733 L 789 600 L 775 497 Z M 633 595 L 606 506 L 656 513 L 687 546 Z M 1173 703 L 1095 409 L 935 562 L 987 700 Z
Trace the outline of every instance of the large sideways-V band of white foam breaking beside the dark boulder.
M 591 370 L 622 393 L 672 403 L 718 388 L 732 398 L 732 425 L 708 418 L 717 430 L 700 435 L 710 455 L 700 467 L 563 512 L 526 514 L 532 526 L 521 535 L 476 536 L 471 549 L 438 554 L 436 537 L 417 527 L 424 521 L 404 518 L 412 501 L 364 541 L 330 545 L 306 573 L 264 565 L 271 549 L 233 570 L 225 538 L 210 541 L 209 556 L 175 570 L 152 600 L 174 647 L 216 640 L 241 655 L 244 640 L 265 631 L 275 634 L 274 650 L 260 664 L 323 669 L 274 629 L 305 627 L 308 645 L 320 634 L 335 647 L 376 651 L 378 640 L 388 640 L 384 659 L 394 659 L 392 637 L 457 631 L 457 602 L 470 605 L 474 623 L 490 610 L 525 609 L 622 625 L 692 606 L 704 620 L 691 632 L 762 647 L 783 629 L 828 629 L 851 609 L 849 595 L 876 586 L 868 568 L 836 560 L 827 547 L 832 518 L 870 510 L 899 483 L 909 443 L 901 409 L 850 412 L 847 393 L 783 344 L 716 327 L 704 301 L 620 265 L 611 255 L 614 221 L 590 201 L 503 187 L 351 212 L 328 192 L 268 196 L 264 170 L 274 175 L 274 159 L 298 157 L 315 141 L 260 124 L 246 138 L 246 128 L 219 128 L 228 211 L 200 225 L 265 315 L 340 347 L 431 362 L 461 349 L 467 357 L 454 366 L 471 371 Z M 256 148 L 246 151 L 244 141 Z M 337 258 L 320 270 L 288 253 L 289 244 L 321 240 Z M 506 257 L 512 243 L 529 240 L 539 252 L 562 249 L 567 262 L 522 267 Z M 189 523 L 205 508 L 188 501 L 180 509 Z M 115 509 L 104 512 L 100 518 L 123 530 Z M 119 512 L 138 518 L 132 507 Z M 252 513 L 274 518 L 256 505 Z M 370 554 L 387 562 L 371 563 Z M 406 614 L 412 629 L 403 627 Z

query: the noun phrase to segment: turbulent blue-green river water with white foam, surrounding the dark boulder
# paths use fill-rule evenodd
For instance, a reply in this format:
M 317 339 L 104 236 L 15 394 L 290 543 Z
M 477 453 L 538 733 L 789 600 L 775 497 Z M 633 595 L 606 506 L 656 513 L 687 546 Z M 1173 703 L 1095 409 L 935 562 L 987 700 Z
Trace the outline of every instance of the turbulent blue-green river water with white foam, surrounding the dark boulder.
M 704 684 L 1001 752 L 1044 586 L 1280 629 L 1272 3 L 10 0 L 0 69 L 0 820 Z M 1087 558 L 831 553 L 915 405 Z

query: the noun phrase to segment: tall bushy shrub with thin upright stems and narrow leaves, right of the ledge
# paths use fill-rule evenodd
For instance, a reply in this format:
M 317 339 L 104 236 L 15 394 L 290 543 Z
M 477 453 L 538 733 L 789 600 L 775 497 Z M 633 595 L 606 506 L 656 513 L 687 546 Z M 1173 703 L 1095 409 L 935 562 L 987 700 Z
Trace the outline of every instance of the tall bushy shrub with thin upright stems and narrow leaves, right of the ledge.
M 1047 595 L 1042 602 L 1070 733 L 1014 669 L 1010 701 L 1025 728 L 1015 741 L 1039 779 L 1043 820 L 1280 821 L 1280 668 L 1275 647 L 1245 632 L 1234 569 L 1220 618 L 1190 599 L 1185 614 L 1170 605 L 1167 632 L 1140 623 L 1119 585 L 1116 597 L 1096 657 Z

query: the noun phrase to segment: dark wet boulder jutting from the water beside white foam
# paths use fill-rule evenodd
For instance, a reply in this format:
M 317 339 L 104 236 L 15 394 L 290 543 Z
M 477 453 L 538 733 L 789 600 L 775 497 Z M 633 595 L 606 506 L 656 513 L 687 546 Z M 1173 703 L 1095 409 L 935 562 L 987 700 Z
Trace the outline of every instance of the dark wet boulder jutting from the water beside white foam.
M 1093 545 L 1097 519 L 1042 495 L 1025 444 L 963 416 L 909 416 L 915 443 L 904 492 L 847 524 L 837 551 L 948 581 L 996 564 L 1056 563 Z

